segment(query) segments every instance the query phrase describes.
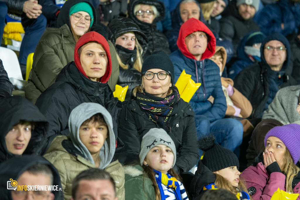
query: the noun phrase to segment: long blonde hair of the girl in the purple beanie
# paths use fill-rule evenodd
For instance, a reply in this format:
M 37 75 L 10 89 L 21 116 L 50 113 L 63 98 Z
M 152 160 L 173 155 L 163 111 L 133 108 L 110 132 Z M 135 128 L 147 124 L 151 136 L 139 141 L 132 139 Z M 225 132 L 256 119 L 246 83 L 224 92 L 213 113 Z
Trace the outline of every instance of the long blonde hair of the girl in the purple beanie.
M 286 192 L 293 193 L 292 182 L 294 177 L 296 177 L 299 173 L 299 168 L 297 165 L 294 164 L 291 154 L 289 150 L 286 148 L 284 155 L 283 155 L 283 166 L 281 171 L 284 172 L 286 177 Z

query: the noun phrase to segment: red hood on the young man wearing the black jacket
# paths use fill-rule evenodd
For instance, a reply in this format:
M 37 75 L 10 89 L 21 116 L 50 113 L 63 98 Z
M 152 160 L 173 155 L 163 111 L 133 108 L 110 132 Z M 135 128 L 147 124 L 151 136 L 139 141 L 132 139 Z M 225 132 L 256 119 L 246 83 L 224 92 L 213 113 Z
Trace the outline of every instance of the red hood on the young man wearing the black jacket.
M 85 72 L 83 71 L 83 68 L 81 66 L 80 63 L 80 59 L 79 59 L 79 55 L 78 55 L 78 49 L 84 45 L 87 42 L 90 41 L 96 41 L 99 44 L 102 45 L 102 47 L 104 48 L 105 52 L 107 53 L 107 67 L 106 67 L 106 72 L 103 75 L 103 77 L 100 78 L 100 82 L 101 83 L 107 83 L 108 79 L 110 78 L 110 75 L 112 73 L 112 59 L 110 57 L 110 47 L 106 41 L 106 39 L 99 33 L 95 32 L 95 31 L 91 31 L 91 32 L 87 32 L 84 35 L 82 35 L 79 40 L 76 42 L 75 45 L 75 51 L 74 51 L 74 61 L 75 61 L 75 65 L 78 68 L 78 70 L 85 76 L 87 77 L 87 75 L 85 74 Z M 88 78 L 88 77 L 87 77 Z

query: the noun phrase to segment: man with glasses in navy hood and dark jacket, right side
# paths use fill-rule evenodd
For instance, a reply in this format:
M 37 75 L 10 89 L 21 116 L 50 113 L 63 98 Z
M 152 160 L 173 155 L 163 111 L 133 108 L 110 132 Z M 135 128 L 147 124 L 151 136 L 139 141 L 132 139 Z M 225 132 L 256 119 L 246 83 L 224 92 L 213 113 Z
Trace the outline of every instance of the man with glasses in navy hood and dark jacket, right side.
M 273 33 L 266 37 L 260 54 L 261 62 L 244 68 L 234 79 L 235 88 L 252 105 L 250 118 L 261 118 L 280 88 L 297 84 L 285 73 L 291 51 L 289 41 L 283 35 Z

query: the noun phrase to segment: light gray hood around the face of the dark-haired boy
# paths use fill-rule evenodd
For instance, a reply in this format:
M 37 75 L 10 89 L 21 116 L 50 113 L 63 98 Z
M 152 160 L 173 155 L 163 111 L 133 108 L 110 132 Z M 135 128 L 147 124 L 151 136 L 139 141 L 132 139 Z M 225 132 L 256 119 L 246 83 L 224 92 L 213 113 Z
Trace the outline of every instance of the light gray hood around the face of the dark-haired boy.
M 76 149 L 78 149 L 91 163 L 95 164 L 91 153 L 79 139 L 79 128 L 85 120 L 88 120 L 97 113 L 103 115 L 109 133 L 99 153 L 101 160 L 99 169 L 104 169 L 112 161 L 116 150 L 116 138 L 113 132 L 113 120 L 110 113 L 102 105 L 97 103 L 82 103 L 78 105 L 72 110 L 69 117 L 69 134 Z

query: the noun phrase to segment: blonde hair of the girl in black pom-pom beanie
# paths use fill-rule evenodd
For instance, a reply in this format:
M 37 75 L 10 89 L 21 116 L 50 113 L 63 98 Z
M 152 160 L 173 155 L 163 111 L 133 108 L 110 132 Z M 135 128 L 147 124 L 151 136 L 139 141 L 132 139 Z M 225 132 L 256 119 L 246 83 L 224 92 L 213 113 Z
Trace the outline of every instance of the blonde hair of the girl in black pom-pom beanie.
M 238 182 L 238 186 L 235 187 L 226 178 L 224 178 L 220 174 L 217 174 L 215 172 L 214 172 L 214 174 L 216 175 L 216 180 L 214 183 L 216 184 L 216 186 L 218 188 L 223 188 L 223 189 L 229 190 L 234 195 L 238 194 L 238 190 L 236 188 L 238 188 L 241 191 L 247 192 L 247 188 L 244 184 L 244 180 L 241 180 L 241 178 L 240 178 L 240 181 Z M 250 199 L 252 199 L 252 198 L 250 197 Z

